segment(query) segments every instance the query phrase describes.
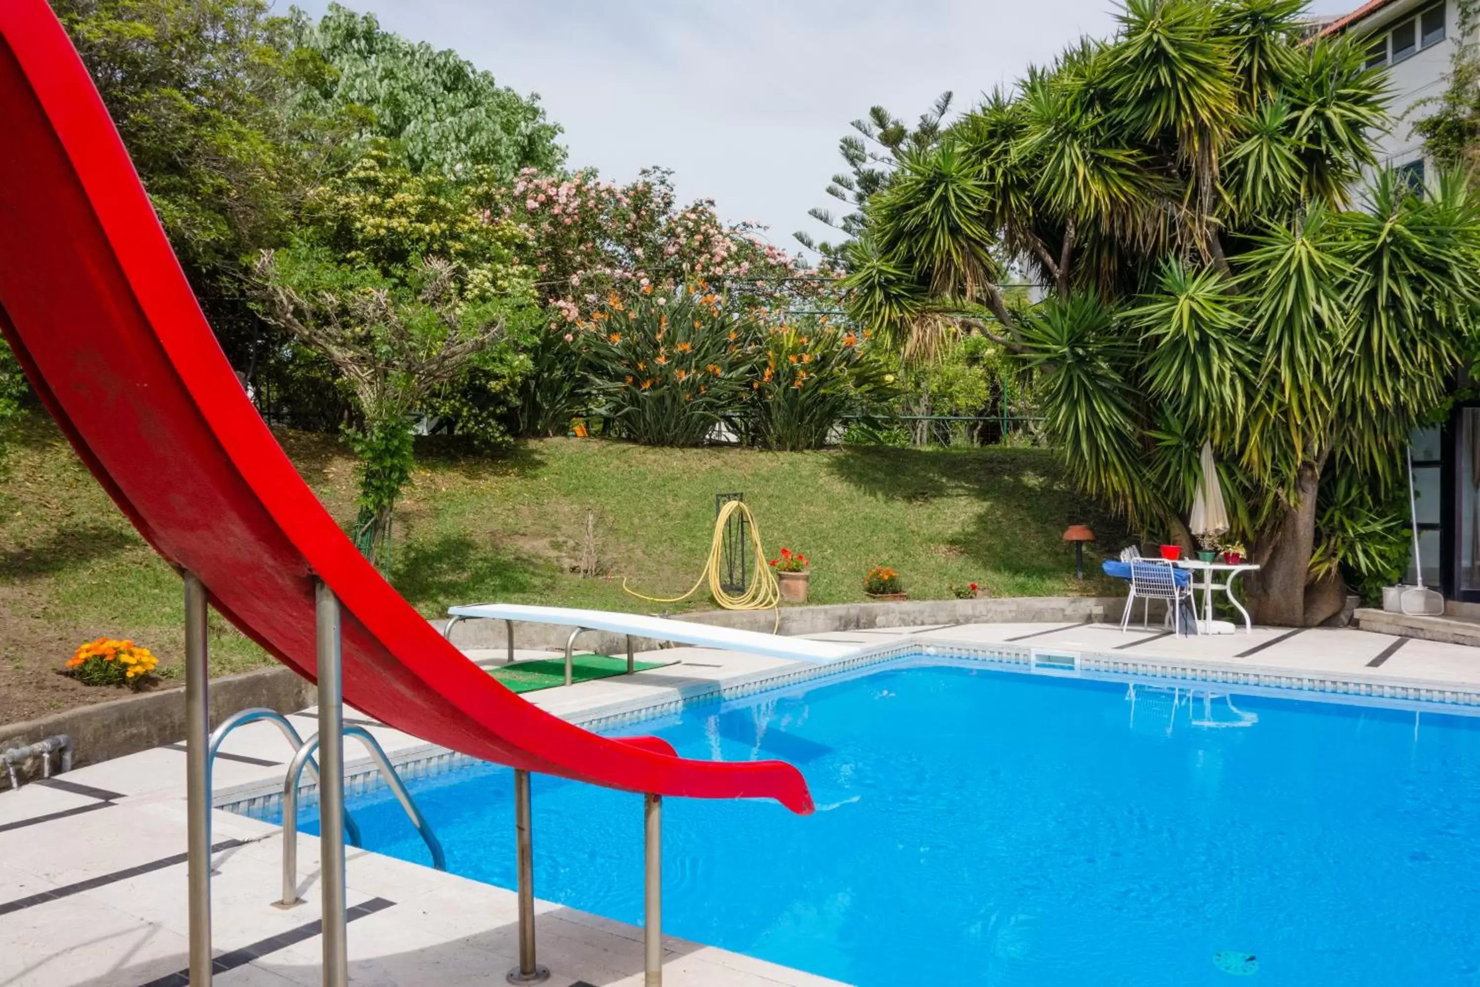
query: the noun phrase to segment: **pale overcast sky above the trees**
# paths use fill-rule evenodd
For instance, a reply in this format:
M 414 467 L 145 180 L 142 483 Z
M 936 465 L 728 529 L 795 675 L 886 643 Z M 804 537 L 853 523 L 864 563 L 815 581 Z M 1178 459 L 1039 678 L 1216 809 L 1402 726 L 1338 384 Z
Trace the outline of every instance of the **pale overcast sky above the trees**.
M 280 0 L 286 7 L 286 1 Z M 1359 0 L 1316 0 L 1344 12 Z M 299 0 L 323 13 L 329 0 Z M 915 120 L 943 90 L 966 108 L 1082 34 L 1110 0 L 349 0 L 380 25 L 456 49 L 564 129 L 570 164 L 628 181 L 675 170 L 679 198 L 731 222 L 824 237 L 813 206 L 848 121 L 881 104 Z M 833 210 L 835 213 L 838 210 Z

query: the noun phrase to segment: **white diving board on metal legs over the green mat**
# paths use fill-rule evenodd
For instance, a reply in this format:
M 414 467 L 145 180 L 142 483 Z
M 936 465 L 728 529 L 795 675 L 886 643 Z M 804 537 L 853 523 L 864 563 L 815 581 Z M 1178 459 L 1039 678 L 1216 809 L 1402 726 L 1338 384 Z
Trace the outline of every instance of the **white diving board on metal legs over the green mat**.
M 450 620 L 443 629 L 443 636 L 450 638 L 451 630 L 462 620 L 503 620 L 509 632 L 509 661 L 514 661 L 514 621 L 546 623 L 574 627 L 570 639 L 565 641 L 565 685 L 570 685 L 571 648 L 576 638 L 585 630 L 610 630 L 628 636 L 628 673 L 632 673 L 632 638 L 650 638 L 654 641 L 673 641 L 691 644 L 700 648 L 721 648 L 724 651 L 744 651 L 746 654 L 764 654 L 771 658 L 793 658 L 798 661 L 838 661 L 863 654 L 867 648 L 852 644 L 838 644 L 835 641 L 813 641 L 810 638 L 786 638 L 758 630 L 736 630 L 734 627 L 716 627 L 713 624 L 693 623 L 688 620 L 669 620 L 666 617 L 648 617 L 645 614 L 623 614 L 611 610 L 577 610 L 574 607 L 533 607 L 524 604 L 472 604 L 468 607 L 448 607 Z

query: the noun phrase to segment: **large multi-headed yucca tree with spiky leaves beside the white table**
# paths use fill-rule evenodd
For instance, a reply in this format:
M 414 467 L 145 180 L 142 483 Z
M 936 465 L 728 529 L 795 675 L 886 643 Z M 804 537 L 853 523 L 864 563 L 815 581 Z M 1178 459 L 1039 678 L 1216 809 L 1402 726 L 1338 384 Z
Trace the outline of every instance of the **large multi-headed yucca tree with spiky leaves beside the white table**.
M 1480 303 L 1477 203 L 1375 167 L 1385 77 L 1302 38 L 1301 10 L 1129 0 L 1111 40 L 906 155 L 845 283 L 854 318 L 907 352 L 971 329 L 1017 354 L 1072 474 L 1148 536 L 1191 545 L 1212 441 L 1264 567 L 1255 614 L 1283 624 L 1339 610 L 1342 562 L 1376 565 L 1339 533 L 1384 516 Z M 1008 265 L 1048 289 L 1026 314 L 998 287 Z

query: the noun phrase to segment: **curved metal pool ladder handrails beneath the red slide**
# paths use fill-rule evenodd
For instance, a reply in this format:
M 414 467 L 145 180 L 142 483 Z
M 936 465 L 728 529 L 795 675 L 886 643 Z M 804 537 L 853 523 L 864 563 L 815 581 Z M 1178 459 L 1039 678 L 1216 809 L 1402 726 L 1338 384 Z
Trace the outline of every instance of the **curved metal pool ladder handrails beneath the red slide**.
M 283 898 L 278 904 L 286 909 L 302 903 L 302 898 L 297 897 L 297 784 L 303 777 L 305 768 L 308 769 L 309 777 L 318 783 L 318 764 L 314 761 L 314 752 L 318 749 L 318 734 L 303 740 L 286 716 L 271 709 L 244 709 L 240 713 L 232 713 L 210 734 L 210 744 L 206 756 L 206 777 L 209 786 L 212 765 L 216 761 L 216 753 L 221 750 L 221 744 L 226 738 L 226 734 L 237 727 L 259 721 L 266 721 L 277 727 L 289 744 L 293 746 L 293 761 L 289 764 L 287 775 L 283 778 Z M 422 809 L 416 805 L 416 799 L 411 798 L 411 793 L 406 787 L 406 781 L 401 780 L 401 775 L 386 756 L 385 749 L 364 727 L 345 727 L 343 735 L 354 737 L 364 744 L 366 750 L 370 752 L 370 759 L 374 761 L 386 787 L 395 793 L 401 808 L 406 809 L 407 818 L 411 820 L 411 826 L 416 827 L 416 833 L 422 838 L 422 842 L 426 843 L 426 849 L 431 851 L 432 866 L 437 867 L 437 870 L 447 870 L 447 855 L 443 852 L 441 841 L 437 839 L 437 833 L 432 832 L 432 824 L 426 821 Z M 361 846 L 360 827 L 355 824 L 354 817 L 349 815 L 348 808 L 343 811 L 343 818 L 345 833 L 349 838 L 349 843 Z

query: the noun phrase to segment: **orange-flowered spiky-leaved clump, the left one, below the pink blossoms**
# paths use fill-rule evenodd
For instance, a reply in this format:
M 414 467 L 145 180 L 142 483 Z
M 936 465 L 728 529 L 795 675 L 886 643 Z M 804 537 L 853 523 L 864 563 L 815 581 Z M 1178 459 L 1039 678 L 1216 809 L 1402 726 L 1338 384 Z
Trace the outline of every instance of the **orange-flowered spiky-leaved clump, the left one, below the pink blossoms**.
M 596 411 L 648 445 L 699 445 L 746 401 L 755 329 L 703 283 L 616 292 L 577 323 L 589 340 Z

